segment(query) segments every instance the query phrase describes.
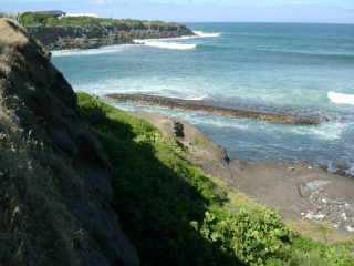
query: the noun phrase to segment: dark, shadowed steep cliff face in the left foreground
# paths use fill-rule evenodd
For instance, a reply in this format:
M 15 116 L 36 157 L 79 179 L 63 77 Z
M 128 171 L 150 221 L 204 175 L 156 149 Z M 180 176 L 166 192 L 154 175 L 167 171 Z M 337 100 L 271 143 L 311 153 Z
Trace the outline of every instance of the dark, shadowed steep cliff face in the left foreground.
M 0 19 L 0 265 L 138 265 L 110 165 L 49 54 Z

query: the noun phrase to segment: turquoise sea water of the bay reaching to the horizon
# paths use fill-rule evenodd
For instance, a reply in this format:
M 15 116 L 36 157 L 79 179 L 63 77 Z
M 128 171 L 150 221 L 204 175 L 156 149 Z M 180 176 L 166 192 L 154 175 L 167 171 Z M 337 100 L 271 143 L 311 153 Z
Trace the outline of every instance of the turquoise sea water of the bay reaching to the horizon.
M 291 126 L 155 109 L 198 125 L 233 158 L 353 163 L 354 25 L 188 25 L 214 34 L 55 52 L 53 61 L 75 90 L 98 95 L 144 92 L 330 117 Z

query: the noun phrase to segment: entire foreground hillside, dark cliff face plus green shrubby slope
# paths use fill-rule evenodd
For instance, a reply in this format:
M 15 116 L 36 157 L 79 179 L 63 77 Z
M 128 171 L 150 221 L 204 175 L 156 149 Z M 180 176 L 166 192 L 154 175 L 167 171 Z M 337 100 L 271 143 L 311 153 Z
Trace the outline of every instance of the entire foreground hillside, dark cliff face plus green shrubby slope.
M 354 263 L 351 243 L 306 239 L 205 174 L 180 134 L 76 96 L 7 20 L 0 92 L 0 265 Z

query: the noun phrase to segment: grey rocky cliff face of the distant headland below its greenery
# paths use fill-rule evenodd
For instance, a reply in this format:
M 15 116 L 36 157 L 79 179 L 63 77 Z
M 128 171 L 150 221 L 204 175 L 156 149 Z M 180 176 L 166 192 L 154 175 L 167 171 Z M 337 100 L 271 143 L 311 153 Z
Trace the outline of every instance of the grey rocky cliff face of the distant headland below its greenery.
M 92 49 L 114 44 L 133 44 L 135 39 L 158 39 L 192 35 L 185 25 L 165 23 L 152 30 L 125 29 L 119 27 L 30 27 L 29 33 L 40 40 L 49 50 Z

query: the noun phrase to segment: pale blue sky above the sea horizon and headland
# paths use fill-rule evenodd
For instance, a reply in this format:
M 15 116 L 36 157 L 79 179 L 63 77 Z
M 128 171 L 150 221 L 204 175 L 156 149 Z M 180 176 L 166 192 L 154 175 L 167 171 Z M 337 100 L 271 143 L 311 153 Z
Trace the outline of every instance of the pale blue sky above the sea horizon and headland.
M 0 0 L 0 11 L 53 9 L 179 22 L 354 23 L 354 0 Z

